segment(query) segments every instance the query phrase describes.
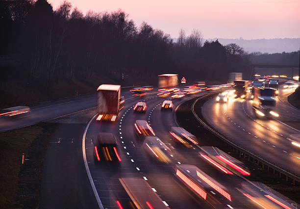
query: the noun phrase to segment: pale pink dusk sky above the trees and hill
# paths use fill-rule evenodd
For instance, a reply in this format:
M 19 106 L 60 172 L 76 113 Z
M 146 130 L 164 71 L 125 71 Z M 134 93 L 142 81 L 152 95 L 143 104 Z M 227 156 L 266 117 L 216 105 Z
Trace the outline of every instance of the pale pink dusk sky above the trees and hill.
M 63 0 L 48 0 L 56 9 Z M 124 10 L 176 38 L 180 28 L 204 38 L 299 38 L 300 0 L 69 0 L 84 14 Z

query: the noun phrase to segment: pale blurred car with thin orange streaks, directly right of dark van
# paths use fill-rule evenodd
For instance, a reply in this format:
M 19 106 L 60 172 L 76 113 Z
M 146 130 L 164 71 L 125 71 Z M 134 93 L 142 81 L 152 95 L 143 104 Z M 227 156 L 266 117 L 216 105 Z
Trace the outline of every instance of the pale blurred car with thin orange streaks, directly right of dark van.
M 157 136 L 147 136 L 145 138 L 143 147 L 146 153 L 152 160 L 159 162 L 171 163 L 171 150 L 165 145 Z

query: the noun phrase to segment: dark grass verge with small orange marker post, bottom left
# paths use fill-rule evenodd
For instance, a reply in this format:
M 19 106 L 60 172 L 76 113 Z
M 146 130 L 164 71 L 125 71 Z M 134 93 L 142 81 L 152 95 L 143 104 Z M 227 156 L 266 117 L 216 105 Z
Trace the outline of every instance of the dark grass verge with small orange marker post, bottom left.
M 38 207 L 40 168 L 54 128 L 42 123 L 0 133 L 1 208 Z

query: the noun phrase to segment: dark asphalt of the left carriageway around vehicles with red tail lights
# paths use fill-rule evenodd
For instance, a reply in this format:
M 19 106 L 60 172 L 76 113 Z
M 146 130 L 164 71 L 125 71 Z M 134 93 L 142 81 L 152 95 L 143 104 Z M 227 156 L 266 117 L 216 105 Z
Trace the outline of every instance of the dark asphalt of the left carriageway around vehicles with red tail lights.
M 185 98 L 184 100 L 187 100 Z M 120 177 L 138 177 L 147 179 L 150 186 L 157 192 L 162 201 L 165 201 L 170 208 L 256 208 L 241 191 L 259 189 L 251 183 L 241 179 L 239 176 L 226 176 L 220 173 L 214 166 L 199 156 L 199 147 L 185 148 L 175 143 L 168 133 L 172 126 L 175 126 L 174 115 L 170 111 L 161 111 L 160 105 L 164 98 L 147 97 L 144 99 L 148 105 L 146 114 L 133 113 L 133 106 L 138 101 L 126 102 L 125 108 L 121 111 L 117 123 L 96 122 L 93 120 L 87 130 L 85 147 L 88 167 L 95 183 L 104 208 L 116 208 L 116 201 L 119 200 L 124 208 L 130 207 L 129 197 L 121 183 Z M 143 101 L 143 100 L 142 100 Z M 174 100 L 175 106 L 182 101 Z M 155 163 L 146 157 L 141 140 L 135 136 L 133 124 L 136 119 L 149 121 L 155 134 L 173 152 L 173 163 Z M 101 164 L 95 165 L 93 152 L 93 139 L 100 131 L 113 132 L 119 140 L 119 154 L 122 159 L 121 166 Z M 192 194 L 186 187 L 179 183 L 174 177 L 175 164 L 189 163 L 197 165 L 206 174 L 213 177 L 217 182 L 223 184 L 226 191 L 232 195 L 232 202 L 229 202 L 214 189 L 208 191 L 211 196 L 215 196 L 216 202 L 207 202 L 199 196 Z M 268 202 L 268 201 L 267 201 Z M 229 205 L 230 204 L 230 205 Z M 272 203 L 268 203 L 271 204 Z M 230 207 L 229 207 L 229 206 Z M 272 205 L 276 207 L 276 205 Z

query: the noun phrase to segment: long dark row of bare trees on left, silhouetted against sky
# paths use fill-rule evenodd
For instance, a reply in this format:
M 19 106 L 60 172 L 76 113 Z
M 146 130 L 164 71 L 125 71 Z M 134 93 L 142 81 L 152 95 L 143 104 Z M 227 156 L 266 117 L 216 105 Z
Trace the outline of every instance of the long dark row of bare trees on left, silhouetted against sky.
M 47 0 L 2 0 L 0 25 L 2 83 L 47 91 L 61 80 L 95 76 L 156 85 L 163 73 L 225 82 L 229 72 L 250 72 L 249 55 L 236 44 L 203 43 L 197 29 L 180 30 L 174 42 L 145 22 L 136 26 L 122 10 L 84 15 L 67 1 L 53 10 Z

